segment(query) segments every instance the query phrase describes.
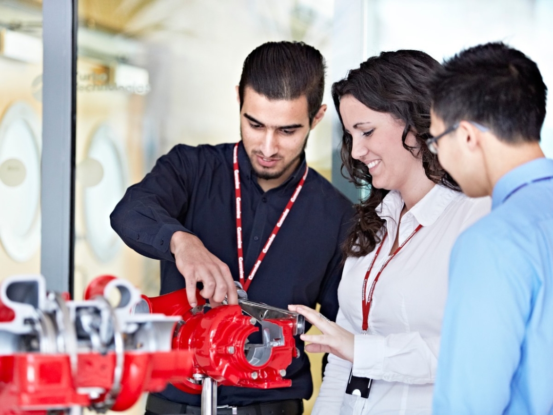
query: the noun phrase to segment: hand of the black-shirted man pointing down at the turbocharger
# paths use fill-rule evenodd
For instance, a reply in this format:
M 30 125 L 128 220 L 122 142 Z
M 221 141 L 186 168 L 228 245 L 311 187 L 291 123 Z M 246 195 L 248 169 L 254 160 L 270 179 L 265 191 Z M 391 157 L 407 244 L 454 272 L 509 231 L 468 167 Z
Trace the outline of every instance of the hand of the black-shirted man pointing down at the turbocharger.
M 178 231 L 171 237 L 171 252 L 176 267 L 186 281 L 186 296 L 196 307 L 196 283 L 202 282 L 200 294 L 210 303 L 221 303 L 227 296 L 228 304 L 238 304 L 236 286 L 226 263 L 209 252 L 197 236 Z

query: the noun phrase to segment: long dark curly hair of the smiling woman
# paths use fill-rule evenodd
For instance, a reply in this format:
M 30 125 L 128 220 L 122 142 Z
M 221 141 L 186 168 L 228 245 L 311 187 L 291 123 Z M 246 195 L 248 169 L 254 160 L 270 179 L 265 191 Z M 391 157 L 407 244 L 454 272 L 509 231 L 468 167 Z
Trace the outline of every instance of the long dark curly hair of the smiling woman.
M 426 177 L 434 183 L 460 190 L 425 143 L 430 136 L 430 94 L 427 82 L 432 71 L 437 68 L 440 68 L 440 64 L 419 50 L 382 52 L 363 62 L 358 69 L 352 69 L 345 79 L 332 85 L 332 99 L 343 128 L 342 174 L 345 168 L 349 181 L 357 187 L 371 185 L 372 177 L 366 164 L 351 157 L 352 136 L 346 132 L 340 115 L 340 98 L 345 95 L 353 96 L 371 110 L 389 113 L 403 122 L 403 147 L 413 154 L 419 152 Z M 409 133 L 416 137 L 417 144 L 414 147 L 405 143 Z M 355 205 L 357 220 L 343 243 L 345 256 L 367 255 L 380 242 L 378 232 L 384 226 L 384 220 L 377 215 L 376 209 L 388 192 L 371 186 L 368 197 Z

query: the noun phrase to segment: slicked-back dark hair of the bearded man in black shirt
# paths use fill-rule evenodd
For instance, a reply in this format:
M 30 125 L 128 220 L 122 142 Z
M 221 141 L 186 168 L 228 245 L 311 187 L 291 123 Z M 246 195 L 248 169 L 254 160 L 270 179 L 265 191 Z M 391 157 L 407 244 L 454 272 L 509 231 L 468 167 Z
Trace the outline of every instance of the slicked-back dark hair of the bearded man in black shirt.
M 325 58 L 303 42 L 264 43 L 244 60 L 238 84 L 240 108 L 246 86 L 269 100 L 294 100 L 305 95 L 311 123 L 325 91 Z

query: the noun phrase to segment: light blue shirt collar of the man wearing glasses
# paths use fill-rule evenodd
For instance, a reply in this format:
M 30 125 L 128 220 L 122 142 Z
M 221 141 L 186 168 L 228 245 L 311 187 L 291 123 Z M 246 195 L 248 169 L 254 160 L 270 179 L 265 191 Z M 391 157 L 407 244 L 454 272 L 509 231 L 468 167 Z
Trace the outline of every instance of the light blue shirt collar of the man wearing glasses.
M 553 160 L 538 158 L 519 165 L 500 178 L 493 188 L 492 209 L 503 204 L 515 191 L 525 185 L 553 177 Z

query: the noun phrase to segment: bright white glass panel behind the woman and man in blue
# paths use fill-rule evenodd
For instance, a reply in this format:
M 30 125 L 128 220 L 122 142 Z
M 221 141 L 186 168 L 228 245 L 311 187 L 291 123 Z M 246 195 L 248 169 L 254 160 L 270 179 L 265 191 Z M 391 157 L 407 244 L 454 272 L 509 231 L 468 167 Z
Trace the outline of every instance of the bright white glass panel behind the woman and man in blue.
M 550 0 L 363 0 L 364 54 L 420 49 L 435 59 L 486 42 L 505 42 L 533 59 L 553 88 Z M 547 103 L 541 147 L 553 157 L 553 103 Z

